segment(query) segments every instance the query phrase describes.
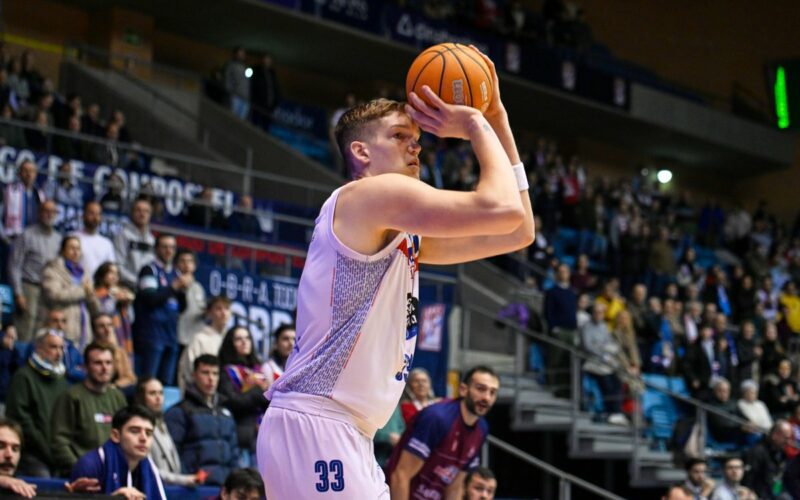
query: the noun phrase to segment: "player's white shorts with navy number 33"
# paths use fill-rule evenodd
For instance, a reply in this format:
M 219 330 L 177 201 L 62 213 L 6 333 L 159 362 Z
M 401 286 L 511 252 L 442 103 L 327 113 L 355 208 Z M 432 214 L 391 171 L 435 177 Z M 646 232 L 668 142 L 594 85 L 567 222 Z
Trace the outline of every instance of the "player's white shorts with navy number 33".
M 258 431 L 267 500 L 389 500 L 372 440 L 352 424 L 270 406 Z

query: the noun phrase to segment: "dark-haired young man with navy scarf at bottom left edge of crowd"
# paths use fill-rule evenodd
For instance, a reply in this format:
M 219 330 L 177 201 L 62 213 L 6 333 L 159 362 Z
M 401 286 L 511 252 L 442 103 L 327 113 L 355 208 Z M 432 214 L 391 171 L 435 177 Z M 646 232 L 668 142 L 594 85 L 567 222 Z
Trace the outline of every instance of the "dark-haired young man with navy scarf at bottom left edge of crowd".
M 111 434 L 102 446 L 81 456 L 72 467 L 67 489 L 103 493 L 126 500 L 167 500 L 158 469 L 147 456 L 153 443 L 155 418 L 141 406 L 122 408 L 111 421 Z M 92 486 L 87 480 L 95 479 Z M 99 486 L 97 488 L 96 486 Z

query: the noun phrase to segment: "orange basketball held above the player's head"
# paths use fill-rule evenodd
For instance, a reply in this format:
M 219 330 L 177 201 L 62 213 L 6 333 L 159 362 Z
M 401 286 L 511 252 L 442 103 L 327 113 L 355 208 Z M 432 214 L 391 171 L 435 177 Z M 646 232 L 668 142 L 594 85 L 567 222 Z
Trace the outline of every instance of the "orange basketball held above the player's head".
M 483 57 L 460 43 L 440 43 L 414 59 L 406 76 L 406 94 L 416 94 L 430 104 L 422 93 L 427 85 L 444 102 L 463 104 L 486 111 L 492 102 L 492 74 Z

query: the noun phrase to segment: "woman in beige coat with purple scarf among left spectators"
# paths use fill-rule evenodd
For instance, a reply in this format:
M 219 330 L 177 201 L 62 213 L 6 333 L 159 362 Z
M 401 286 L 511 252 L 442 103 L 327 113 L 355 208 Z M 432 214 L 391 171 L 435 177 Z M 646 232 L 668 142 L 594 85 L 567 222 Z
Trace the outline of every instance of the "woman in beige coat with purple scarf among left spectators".
M 79 348 L 91 340 L 89 318 L 97 314 L 100 305 L 94 295 L 92 281 L 79 264 L 81 242 L 76 236 L 61 240 L 59 257 L 42 271 L 42 300 L 40 316 L 48 309 L 59 308 L 67 316 L 66 338 Z

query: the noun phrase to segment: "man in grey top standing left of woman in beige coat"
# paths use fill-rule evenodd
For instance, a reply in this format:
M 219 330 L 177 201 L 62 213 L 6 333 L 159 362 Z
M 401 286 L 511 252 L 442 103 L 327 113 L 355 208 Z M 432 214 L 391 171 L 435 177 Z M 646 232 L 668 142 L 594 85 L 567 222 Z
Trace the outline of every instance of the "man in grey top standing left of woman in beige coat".
M 15 326 L 22 342 L 33 337 L 41 297 L 42 270 L 58 256 L 61 234 L 53 229 L 56 204 L 50 200 L 39 209 L 39 223 L 25 229 L 12 249 L 8 273 L 16 302 Z

